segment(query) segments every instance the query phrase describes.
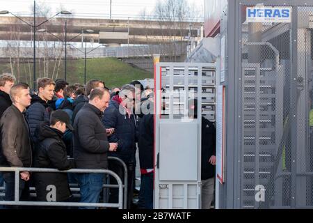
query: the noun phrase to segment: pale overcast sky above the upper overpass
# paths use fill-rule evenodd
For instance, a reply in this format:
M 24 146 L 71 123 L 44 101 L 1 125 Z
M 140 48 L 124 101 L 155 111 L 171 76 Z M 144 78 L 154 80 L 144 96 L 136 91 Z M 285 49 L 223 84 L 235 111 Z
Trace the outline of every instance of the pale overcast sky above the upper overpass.
M 152 13 L 157 1 L 160 0 L 112 0 L 113 18 L 138 18 L 141 11 L 146 9 L 147 13 Z M 201 9 L 203 0 L 187 0 L 195 3 Z M 76 17 L 109 17 L 110 0 L 37 0 L 36 4 L 45 5 L 51 8 L 51 13 L 56 13 L 62 8 L 74 12 Z M 0 10 L 9 10 L 18 15 L 31 15 L 33 0 L 0 0 Z

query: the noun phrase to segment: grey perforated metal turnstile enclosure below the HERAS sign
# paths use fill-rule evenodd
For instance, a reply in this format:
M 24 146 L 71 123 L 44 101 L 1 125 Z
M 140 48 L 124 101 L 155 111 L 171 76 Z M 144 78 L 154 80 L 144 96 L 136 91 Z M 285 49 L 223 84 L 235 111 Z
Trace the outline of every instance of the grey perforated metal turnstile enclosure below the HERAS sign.
M 313 207 L 312 18 L 308 6 L 290 23 L 241 13 L 241 208 Z

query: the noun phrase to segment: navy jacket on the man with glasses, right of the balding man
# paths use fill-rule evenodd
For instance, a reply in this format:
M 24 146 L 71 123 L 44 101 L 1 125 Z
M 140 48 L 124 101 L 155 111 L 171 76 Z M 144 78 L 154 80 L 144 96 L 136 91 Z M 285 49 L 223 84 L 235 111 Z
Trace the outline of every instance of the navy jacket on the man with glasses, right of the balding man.
M 118 97 L 115 96 L 115 97 Z M 118 150 L 109 153 L 110 156 L 119 157 L 124 162 L 134 162 L 136 149 L 136 118 L 121 109 L 124 114 L 119 111 L 120 105 L 113 98 L 109 107 L 104 110 L 102 122 L 106 128 L 114 128 L 115 132 L 109 137 L 109 142 L 117 142 Z

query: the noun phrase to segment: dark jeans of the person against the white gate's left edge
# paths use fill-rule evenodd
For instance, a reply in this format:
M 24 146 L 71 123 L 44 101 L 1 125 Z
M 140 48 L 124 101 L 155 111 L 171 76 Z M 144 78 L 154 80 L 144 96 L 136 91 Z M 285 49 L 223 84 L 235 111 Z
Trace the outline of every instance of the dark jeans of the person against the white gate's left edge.
M 153 209 L 153 172 L 141 175 L 145 209 Z

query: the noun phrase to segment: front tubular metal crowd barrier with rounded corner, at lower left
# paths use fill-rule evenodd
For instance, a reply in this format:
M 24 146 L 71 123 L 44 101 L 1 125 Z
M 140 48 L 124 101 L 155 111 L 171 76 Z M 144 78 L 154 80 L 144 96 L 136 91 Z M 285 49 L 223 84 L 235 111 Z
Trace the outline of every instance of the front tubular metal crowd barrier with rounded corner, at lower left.
M 116 159 L 114 159 L 116 160 Z M 125 165 L 126 166 L 126 165 Z M 109 174 L 112 175 L 118 182 L 118 203 L 81 203 L 81 202 L 47 202 L 47 201 L 19 201 L 19 172 L 45 172 L 45 173 L 77 173 L 77 174 Z M 70 169 L 67 171 L 59 171 L 57 169 L 47 168 L 21 168 L 21 167 L 0 167 L 0 172 L 15 172 L 15 200 L 0 201 L 0 205 L 17 205 L 17 206 L 76 206 L 76 207 L 103 207 L 103 208 L 123 208 L 123 190 L 122 180 L 113 171 L 108 169 Z M 125 174 L 127 176 L 127 172 Z M 127 190 L 127 181 L 125 181 Z

